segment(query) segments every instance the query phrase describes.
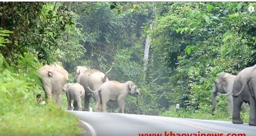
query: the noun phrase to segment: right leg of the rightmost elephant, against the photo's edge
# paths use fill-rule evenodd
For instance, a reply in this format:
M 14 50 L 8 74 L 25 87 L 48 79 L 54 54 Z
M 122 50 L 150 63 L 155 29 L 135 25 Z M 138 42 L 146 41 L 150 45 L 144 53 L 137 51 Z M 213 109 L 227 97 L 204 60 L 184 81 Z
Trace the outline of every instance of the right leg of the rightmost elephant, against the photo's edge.
M 250 117 L 249 117 L 249 125 L 256 126 L 256 101 L 253 97 L 251 97 L 250 101 Z

